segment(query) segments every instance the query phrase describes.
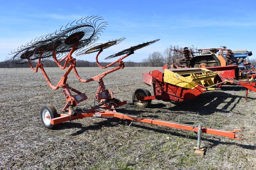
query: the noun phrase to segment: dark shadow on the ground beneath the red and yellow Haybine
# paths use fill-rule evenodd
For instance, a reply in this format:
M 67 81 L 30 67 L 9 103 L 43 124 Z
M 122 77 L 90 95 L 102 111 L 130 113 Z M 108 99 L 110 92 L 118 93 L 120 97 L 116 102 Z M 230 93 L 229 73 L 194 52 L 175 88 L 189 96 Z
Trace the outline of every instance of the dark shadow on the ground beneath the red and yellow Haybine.
M 196 96 L 194 99 L 183 101 L 183 102 L 170 102 L 172 104 L 161 103 L 162 101 L 157 101 L 159 103 L 153 104 L 151 103 L 148 107 L 149 109 L 145 110 L 143 108 L 137 108 L 136 111 L 127 110 L 127 109 L 118 109 L 122 113 L 128 114 L 145 114 L 148 113 L 163 113 L 163 112 L 172 112 L 177 114 L 185 114 L 186 112 L 190 113 L 200 113 L 200 115 L 210 115 L 215 112 L 232 112 L 235 114 L 244 115 L 243 113 L 236 113 L 234 108 L 237 106 L 239 102 L 244 102 L 244 96 L 240 95 L 232 95 L 221 91 L 209 91 L 202 93 L 199 96 Z M 249 98 L 254 100 L 253 98 Z M 134 107 L 133 103 L 127 103 L 130 107 Z M 173 106 L 174 105 L 174 106 Z M 158 109 L 157 111 L 150 111 L 152 109 Z M 163 109 L 163 110 L 160 110 Z M 136 113 L 135 113 L 136 112 Z

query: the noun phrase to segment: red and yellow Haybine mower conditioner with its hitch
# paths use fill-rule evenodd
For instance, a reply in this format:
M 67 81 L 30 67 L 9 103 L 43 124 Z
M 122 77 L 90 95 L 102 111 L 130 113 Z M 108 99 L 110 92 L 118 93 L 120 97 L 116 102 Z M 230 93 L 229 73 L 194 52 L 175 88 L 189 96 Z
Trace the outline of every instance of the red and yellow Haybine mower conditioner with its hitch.
M 229 70 L 223 68 L 229 74 L 234 73 L 233 66 Z M 213 70 L 210 70 L 213 69 Z M 235 73 L 234 73 L 235 74 Z M 256 92 L 255 75 L 251 80 L 244 79 L 225 79 L 221 77 L 215 68 L 171 68 L 162 70 L 153 70 L 143 73 L 143 82 L 148 86 L 153 86 L 154 95 L 144 88 L 134 91 L 132 100 L 137 107 L 148 107 L 152 100 L 163 101 L 186 101 L 193 99 L 199 94 L 208 90 L 220 90 L 223 84 L 238 84 L 246 88 L 246 99 L 248 101 L 248 90 Z

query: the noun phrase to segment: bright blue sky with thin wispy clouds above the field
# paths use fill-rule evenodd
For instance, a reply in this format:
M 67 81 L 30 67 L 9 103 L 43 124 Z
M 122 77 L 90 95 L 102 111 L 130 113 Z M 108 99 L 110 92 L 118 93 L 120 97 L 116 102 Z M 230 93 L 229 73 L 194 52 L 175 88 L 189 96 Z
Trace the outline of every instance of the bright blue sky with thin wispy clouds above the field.
M 256 1 L 1 1 L 0 61 L 11 50 L 51 33 L 81 17 L 102 16 L 108 26 L 99 42 L 126 37 L 104 50 L 103 58 L 150 40 L 153 45 L 135 51 L 125 60 L 140 62 L 170 45 L 211 48 L 225 45 L 254 53 Z M 95 54 L 77 59 L 95 60 Z

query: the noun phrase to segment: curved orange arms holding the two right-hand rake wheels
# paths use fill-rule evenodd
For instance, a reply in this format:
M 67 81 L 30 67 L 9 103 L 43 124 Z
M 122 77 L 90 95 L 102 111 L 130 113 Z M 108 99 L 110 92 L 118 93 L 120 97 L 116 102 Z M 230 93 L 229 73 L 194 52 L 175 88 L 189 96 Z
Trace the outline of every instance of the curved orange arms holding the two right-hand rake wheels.
M 107 65 L 107 66 L 105 66 L 105 67 L 102 67 L 102 66 L 98 63 L 98 56 L 99 56 L 99 54 L 100 54 L 101 52 L 102 52 L 102 51 L 99 51 L 99 53 L 98 53 L 97 56 L 96 56 L 97 64 L 98 64 L 101 68 L 107 68 L 107 67 L 109 67 L 109 66 L 111 66 L 111 65 L 113 65 L 113 64 L 115 64 L 115 63 L 117 63 L 117 62 L 119 62 L 119 66 L 117 66 L 117 67 L 115 67 L 115 68 L 112 68 L 112 69 L 110 69 L 110 70 L 108 70 L 108 71 L 105 71 L 105 72 L 103 72 L 103 73 L 101 73 L 101 74 L 99 74 L 99 75 L 97 75 L 97 76 L 94 76 L 94 77 L 92 77 L 92 78 L 90 78 L 90 79 L 86 79 L 86 80 L 82 79 L 82 78 L 78 75 L 77 69 L 74 67 L 74 68 L 73 68 L 74 73 L 75 73 L 75 75 L 77 76 L 77 79 L 78 79 L 79 81 L 81 81 L 81 82 L 83 82 L 83 83 L 87 83 L 87 82 L 90 82 L 90 81 L 96 81 L 96 80 L 99 81 L 100 79 L 102 79 L 103 77 L 105 77 L 107 74 L 109 74 L 109 73 L 111 73 L 111 72 L 113 72 L 113 71 L 116 71 L 116 70 L 119 70 L 119 69 L 124 68 L 124 63 L 123 63 L 122 59 L 124 59 L 125 57 L 128 57 L 128 56 L 131 55 L 131 54 L 134 54 L 134 52 L 132 51 L 132 52 L 130 52 L 129 54 L 126 54 L 125 56 L 123 56 L 123 57 L 119 58 L 118 60 L 114 61 L 113 63 L 111 63 L 111 64 L 109 64 L 109 65 Z

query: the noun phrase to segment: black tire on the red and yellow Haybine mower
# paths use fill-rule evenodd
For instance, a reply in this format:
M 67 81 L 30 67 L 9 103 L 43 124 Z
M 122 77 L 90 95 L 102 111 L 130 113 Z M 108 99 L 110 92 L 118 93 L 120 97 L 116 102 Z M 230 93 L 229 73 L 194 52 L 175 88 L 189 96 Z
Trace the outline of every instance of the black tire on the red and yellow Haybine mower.
M 145 88 L 138 88 L 132 94 L 132 102 L 136 107 L 146 108 L 150 105 L 152 100 L 138 100 L 138 96 L 151 96 L 151 93 Z

